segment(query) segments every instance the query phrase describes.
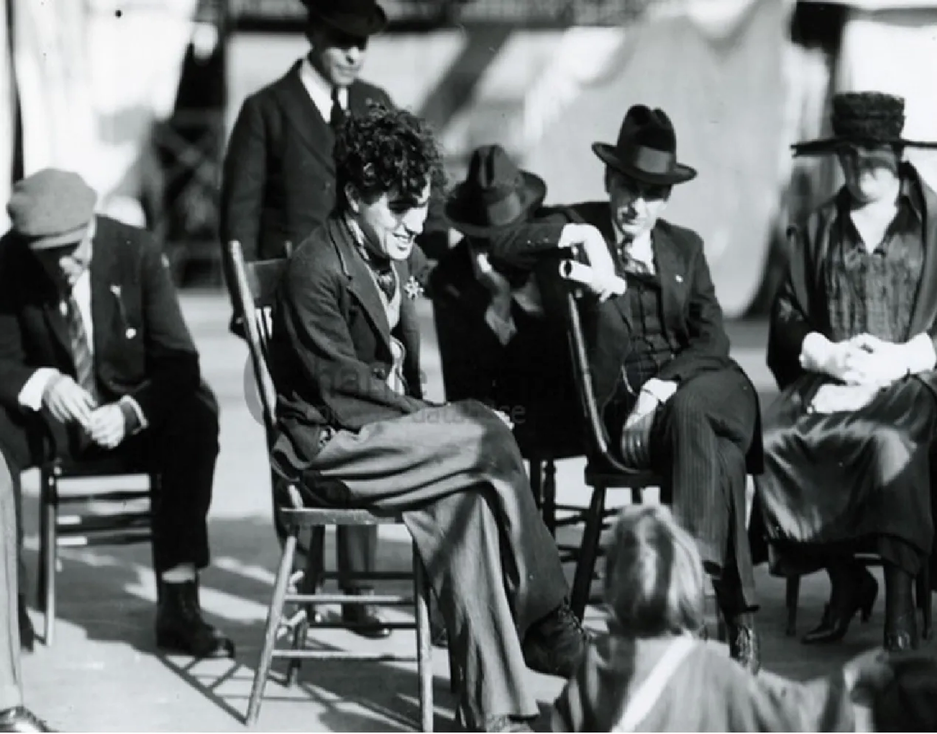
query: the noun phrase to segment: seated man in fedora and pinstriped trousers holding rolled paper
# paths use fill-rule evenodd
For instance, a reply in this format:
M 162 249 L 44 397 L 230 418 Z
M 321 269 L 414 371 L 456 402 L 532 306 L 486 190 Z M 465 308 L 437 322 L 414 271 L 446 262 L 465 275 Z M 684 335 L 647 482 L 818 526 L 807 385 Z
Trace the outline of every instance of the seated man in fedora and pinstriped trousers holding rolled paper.
M 597 142 L 609 200 L 574 204 L 498 238 L 493 252 L 532 267 L 555 251 L 567 221 L 604 235 L 628 290 L 582 304 L 593 389 L 619 459 L 649 466 L 696 538 L 729 628 L 732 656 L 757 669 L 757 609 L 746 532 L 746 472 L 763 456 L 754 387 L 729 358 L 729 339 L 703 242 L 661 217 L 671 188 L 695 177 L 677 162 L 663 110 L 628 110 L 617 144 Z M 551 235 L 551 228 L 553 234 Z

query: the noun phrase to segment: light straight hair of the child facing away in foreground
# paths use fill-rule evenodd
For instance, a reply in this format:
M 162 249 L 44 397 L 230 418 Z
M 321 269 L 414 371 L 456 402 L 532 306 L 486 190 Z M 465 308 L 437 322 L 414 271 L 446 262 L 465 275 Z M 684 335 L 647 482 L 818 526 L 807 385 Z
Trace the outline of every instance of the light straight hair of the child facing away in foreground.
M 606 557 L 605 603 L 617 631 L 629 637 L 703 627 L 703 564 L 666 506 L 628 506 L 618 515 Z

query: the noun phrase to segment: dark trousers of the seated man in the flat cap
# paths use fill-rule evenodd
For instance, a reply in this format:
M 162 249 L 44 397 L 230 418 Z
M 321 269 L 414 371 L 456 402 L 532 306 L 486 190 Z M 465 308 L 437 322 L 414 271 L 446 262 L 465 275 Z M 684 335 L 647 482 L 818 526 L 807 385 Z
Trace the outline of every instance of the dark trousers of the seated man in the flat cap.
M 0 448 L 10 468 L 20 472 L 52 458 L 90 459 L 106 452 L 45 410 L 14 413 L 0 409 Z M 153 559 L 156 572 L 189 563 L 208 565 L 208 508 L 218 454 L 218 405 L 202 385 L 176 399 L 156 426 L 127 437 L 112 453 L 127 466 L 146 467 L 160 476 L 153 497 Z

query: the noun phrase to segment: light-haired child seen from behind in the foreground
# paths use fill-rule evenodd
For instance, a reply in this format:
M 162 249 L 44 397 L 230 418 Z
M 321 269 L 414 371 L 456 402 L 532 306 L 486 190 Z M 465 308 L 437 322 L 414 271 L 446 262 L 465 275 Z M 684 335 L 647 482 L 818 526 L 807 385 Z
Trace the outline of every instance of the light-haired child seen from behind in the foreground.
M 703 626 L 703 564 L 665 506 L 630 506 L 608 551 L 609 635 L 589 645 L 557 699 L 553 731 L 853 731 L 853 698 L 868 701 L 891 679 L 881 651 L 841 672 L 793 683 L 755 677 Z

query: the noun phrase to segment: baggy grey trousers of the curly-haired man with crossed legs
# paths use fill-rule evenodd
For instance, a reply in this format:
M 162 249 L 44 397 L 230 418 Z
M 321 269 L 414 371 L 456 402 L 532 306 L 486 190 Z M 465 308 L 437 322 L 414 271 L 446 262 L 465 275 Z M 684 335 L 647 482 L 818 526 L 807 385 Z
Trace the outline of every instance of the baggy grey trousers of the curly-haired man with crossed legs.
M 536 716 L 521 640 L 568 586 L 501 420 L 467 401 L 340 431 L 303 478 L 311 503 L 402 511 L 462 670 L 467 726 Z

